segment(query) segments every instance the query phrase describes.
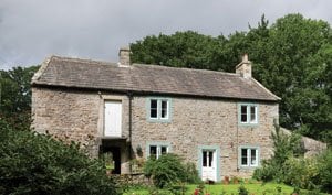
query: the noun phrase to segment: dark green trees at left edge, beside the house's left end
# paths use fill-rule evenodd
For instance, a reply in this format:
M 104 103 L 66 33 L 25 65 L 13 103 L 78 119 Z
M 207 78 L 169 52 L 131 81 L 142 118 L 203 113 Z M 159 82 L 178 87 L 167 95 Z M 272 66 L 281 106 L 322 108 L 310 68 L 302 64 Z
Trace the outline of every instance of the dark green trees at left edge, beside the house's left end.
M 14 129 L 30 128 L 30 82 L 39 66 L 0 71 L 0 118 Z

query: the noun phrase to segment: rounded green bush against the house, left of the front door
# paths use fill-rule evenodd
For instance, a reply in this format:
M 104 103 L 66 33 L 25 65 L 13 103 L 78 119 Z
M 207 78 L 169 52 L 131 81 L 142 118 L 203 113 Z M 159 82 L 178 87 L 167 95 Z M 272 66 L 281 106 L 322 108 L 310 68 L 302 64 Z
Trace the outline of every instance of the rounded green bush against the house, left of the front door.
M 155 186 L 159 188 L 169 187 L 188 178 L 180 158 L 172 153 L 164 154 L 159 159 L 148 159 L 144 165 L 144 174 L 152 177 Z

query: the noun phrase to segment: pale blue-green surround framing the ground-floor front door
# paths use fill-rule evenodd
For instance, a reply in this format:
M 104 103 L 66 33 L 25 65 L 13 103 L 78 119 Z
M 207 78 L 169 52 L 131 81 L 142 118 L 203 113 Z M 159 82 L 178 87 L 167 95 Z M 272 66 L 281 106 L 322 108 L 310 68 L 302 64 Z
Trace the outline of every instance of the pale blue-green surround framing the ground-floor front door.
M 216 152 L 216 180 L 215 182 L 220 181 L 220 148 L 218 145 L 198 145 L 198 161 L 197 161 L 197 170 L 199 174 L 199 178 L 201 178 L 201 164 L 203 164 L 203 159 L 201 159 L 201 153 L 204 150 L 209 150 L 209 151 L 215 151 Z

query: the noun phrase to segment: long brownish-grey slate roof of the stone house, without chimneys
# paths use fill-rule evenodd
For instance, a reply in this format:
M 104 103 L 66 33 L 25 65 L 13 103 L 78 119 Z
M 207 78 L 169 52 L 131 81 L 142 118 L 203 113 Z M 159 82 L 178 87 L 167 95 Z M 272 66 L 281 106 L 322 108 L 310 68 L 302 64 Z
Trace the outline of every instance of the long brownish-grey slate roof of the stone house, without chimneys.
M 169 94 L 277 101 L 280 98 L 253 78 L 238 74 L 51 56 L 32 85 L 114 91 Z

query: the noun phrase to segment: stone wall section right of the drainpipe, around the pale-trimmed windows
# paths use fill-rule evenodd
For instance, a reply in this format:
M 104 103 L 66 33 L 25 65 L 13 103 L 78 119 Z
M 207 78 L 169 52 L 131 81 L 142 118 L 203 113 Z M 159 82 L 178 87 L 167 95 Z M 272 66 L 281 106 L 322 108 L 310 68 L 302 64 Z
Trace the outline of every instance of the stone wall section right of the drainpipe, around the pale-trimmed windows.
M 238 170 L 239 145 L 259 147 L 261 159 L 272 154 L 270 134 L 273 119 L 278 119 L 277 104 L 259 104 L 259 124 L 253 127 L 238 124 L 238 101 L 172 98 L 170 122 L 148 121 L 146 104 L 146 97 L 134 97 L 132 143 L 134 151 L 143 149 L 142 158 L 147 155 L 148 142 L 165 142 L 170 144 L 173 153 L 197 164 L 199 147 L 218 147 L 222 178 L 252 174 L 250 169 Z

